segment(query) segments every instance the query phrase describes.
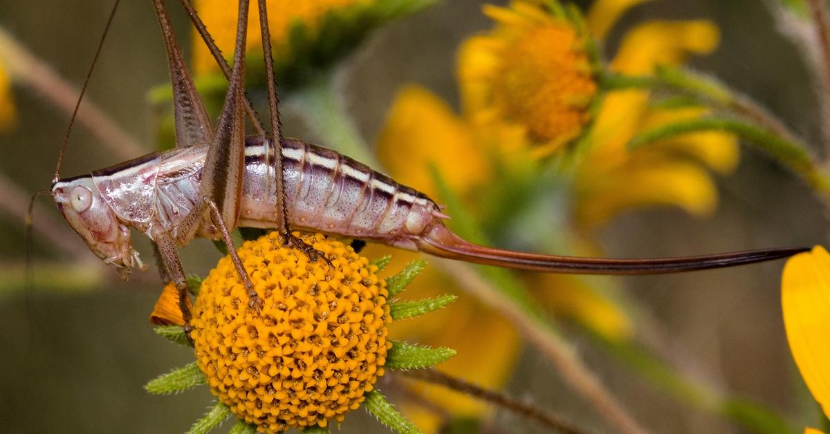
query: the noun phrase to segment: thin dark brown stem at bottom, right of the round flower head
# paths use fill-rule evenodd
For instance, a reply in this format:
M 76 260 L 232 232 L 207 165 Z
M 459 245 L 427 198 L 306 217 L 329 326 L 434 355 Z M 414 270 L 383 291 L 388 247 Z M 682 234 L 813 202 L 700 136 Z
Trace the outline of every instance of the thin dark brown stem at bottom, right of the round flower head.
M 569 424 L 569 422 L 564 422 L 558 417 L 554 417 L 549 412 L 545 412 L 541 408 L 533 407 L 526 402 L 521 402 L 517 399 L 509 397 L 505 393 L 481 388 L 473 383 L 468 383 L 461 378 L 452 377 L 446 373 L 437 371 L 436 369 L 416 369 L 413 371 L 405 371 L 403 372 L 403 375 L 410 378 L 417 378 L 418 380 L 425 381 L 427 383 L 437 384 L 445 388 L 450 388 L 457 392 L 464 393 L 465 395 L 475 397 L 476 399 L 490 402 L 493 405 L 515 412 L 522 417 L 533 419 L 545 427 L 549 427 L 559 432 L 569 434 L 582 434 L 584 432 L 583 430 Z

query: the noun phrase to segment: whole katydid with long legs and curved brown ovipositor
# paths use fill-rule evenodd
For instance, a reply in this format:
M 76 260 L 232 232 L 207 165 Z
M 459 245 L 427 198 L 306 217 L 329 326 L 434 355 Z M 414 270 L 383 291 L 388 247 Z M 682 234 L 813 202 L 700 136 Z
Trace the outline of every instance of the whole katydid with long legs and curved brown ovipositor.
M 521 270 L 581 274 L 656 274 L 738 266 L 791 256 L 803 248 L 741 251 L 712 256 L 662 259 L 599 259 L 547 256 L 478 246 L 442 223 L 447 215 L 414 188 L 352 158 L 286 139 L 281 132 L 265 0 L 258 0 L 266 64 L 271 134 L 256 119 L 244 94 L 248 0 L 238 3 L 237 39 L 227 66 L 188 0 L 181 0 L 229 80 L 214 128 L 178 48 L 164 0 L 153 0 L 164 36 L 173 104 L 176 148 L 144 155 L 75 178 L 60 178 L 60 159 L 51 195 L 66 222 L 96 256 L 126 278 L 141 266 L 129 228 L 149 236 L 167 276 L 180 294 L 185 322 L 188 283 L 177 248 L 194 237 L 222 239 L 249 305 L 262 300 L 237 256 L 230 233 L 236 227 L 279 231 L 286 243 L 312 259 L 320 251 L 291 236 L 290 228 L 354 237 L 461 261 Z M 245 136 L 248 118 L 256 134 Z M 64 149 L 61 149 L 61 158 Z M 186 326 L 187 329 L 187 326 Z

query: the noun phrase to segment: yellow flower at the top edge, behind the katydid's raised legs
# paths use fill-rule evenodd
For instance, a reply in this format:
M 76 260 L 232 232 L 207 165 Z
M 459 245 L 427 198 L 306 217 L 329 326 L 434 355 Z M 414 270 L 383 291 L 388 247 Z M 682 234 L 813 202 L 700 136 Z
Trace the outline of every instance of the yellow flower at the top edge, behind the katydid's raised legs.
M 268 24 L 271 32 L 271 44 L 274 56 L 279 58 L 285 51 L 288 35 L 295 22 L 315 28 L 327 12 L 374 0 L 268 0 Z M 233 53 L 237 37 L 237 9 L 228 7 L 225 0 L 196 0 L 194 6 L 199 17 L 205 22 L 213 40 L 223 53 Z M 259 8 L 254 3 L 248 15 L 247 46 L 249 51 L 262 46 L 262 34 L 259 26 Z M 218 71 L 216 61 L 207 50 L 198 33 L 193 33 L 193 68 L 198 76 Z

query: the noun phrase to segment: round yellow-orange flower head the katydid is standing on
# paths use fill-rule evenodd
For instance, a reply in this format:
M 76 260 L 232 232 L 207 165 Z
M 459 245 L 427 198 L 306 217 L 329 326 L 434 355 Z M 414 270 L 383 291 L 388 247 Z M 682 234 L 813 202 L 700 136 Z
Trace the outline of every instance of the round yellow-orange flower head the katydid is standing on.
M 302 238 L 332 265 L 282 246 L 276 232 L 239 249 L 261 312 L 248 307 L 227 256 L 194 305 L 197 363 L 212 393 L 261 432 L 342 421 L 383 375 L 391 346 L 377 266 L 340 241 Z

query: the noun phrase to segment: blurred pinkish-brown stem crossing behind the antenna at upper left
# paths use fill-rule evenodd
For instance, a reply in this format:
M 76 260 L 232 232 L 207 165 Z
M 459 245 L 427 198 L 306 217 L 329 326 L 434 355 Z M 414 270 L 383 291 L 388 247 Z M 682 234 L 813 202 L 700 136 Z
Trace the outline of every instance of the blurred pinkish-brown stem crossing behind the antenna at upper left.
M 7 68 L 12 82 L 27 85 L 66 115 L 75 110 L 78 90 L 59 76 L 46 62 L 34 56 L 0 27 L 0 61 Z M 78 122 L 119 158 L 135 158 L 144 154 L 144 147 L 113 122 L 104 111 L 87 98 L 78 110 Z

